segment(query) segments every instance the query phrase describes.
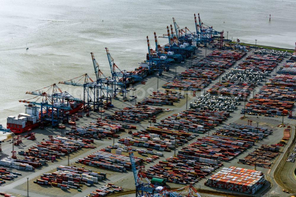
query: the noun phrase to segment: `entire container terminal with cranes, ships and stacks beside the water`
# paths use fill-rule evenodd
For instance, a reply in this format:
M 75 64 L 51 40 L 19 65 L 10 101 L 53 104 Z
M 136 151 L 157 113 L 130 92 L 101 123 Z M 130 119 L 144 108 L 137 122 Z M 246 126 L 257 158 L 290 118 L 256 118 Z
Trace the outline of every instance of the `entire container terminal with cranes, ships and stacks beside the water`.
M 1 196 L 294 196 L 296 51 L 228 40 L 198 14 L 134 71 L 26 94 L 0 125 Z M 256 42 L 257 44 L 257 42 Z M 295 48 L 296 50 L 296 48 Z M 74 77 L 74 78 L 73 78 Z M 293 187 L 294 186 L 294 187 Z

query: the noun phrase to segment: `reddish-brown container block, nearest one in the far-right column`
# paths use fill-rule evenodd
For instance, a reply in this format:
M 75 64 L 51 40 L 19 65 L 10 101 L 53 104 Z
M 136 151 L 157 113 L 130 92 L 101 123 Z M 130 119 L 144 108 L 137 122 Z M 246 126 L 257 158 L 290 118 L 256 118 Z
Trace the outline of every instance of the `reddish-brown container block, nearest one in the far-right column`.
M 292 109 L 294 102 L 279 101 L 272 99 L 250 99 L 246 104 L 246 108 L 242 108 L 241 114 L 255 113 L 255 114 L 270 114 L 274 116 L 286 116 L 288 111 Z

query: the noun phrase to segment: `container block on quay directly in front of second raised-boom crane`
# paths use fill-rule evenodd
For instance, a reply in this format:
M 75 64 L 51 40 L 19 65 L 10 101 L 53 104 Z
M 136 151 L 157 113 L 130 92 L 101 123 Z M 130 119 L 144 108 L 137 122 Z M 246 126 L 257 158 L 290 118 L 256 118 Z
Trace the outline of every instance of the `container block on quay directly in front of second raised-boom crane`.
M 141 120 L 148 119 L 162 111 L 163 109 L 159 107 L 134 105 L 117 110 L 115 111 L 115 114 L 107 115 L 105 118 L 123 122 L 139 123 Z

